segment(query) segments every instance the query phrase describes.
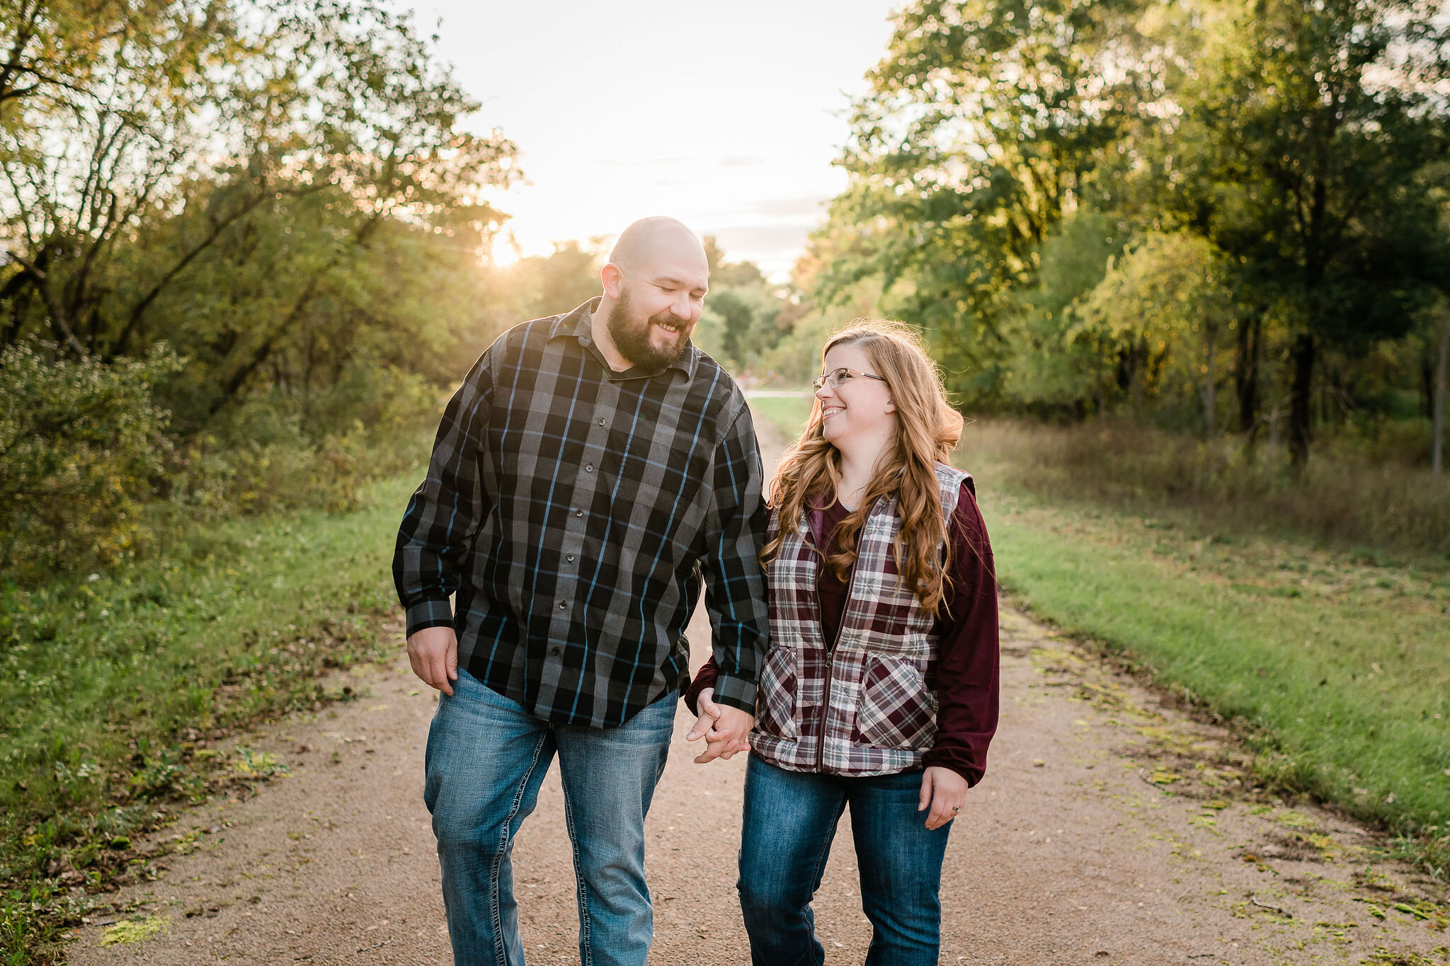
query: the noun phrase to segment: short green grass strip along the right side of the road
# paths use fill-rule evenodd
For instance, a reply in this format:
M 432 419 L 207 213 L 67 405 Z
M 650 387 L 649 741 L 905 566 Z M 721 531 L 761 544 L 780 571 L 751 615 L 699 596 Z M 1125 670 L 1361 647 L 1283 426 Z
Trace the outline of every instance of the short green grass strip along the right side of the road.
M 795 434 L 809 400 L 754 400 Z M 1415 843 L 1450 875 L 1450 569 L 1282 534 L 1209 533 L 977 476 L 999 576 L 1038 617 L 1232 721 L 1276 789 Z M 1406 843 L 1408 844 L 1408 843 Z

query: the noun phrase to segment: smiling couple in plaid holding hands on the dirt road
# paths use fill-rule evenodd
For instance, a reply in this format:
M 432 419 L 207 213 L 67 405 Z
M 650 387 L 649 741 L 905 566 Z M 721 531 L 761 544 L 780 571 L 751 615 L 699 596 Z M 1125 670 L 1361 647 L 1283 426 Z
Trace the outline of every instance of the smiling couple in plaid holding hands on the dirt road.
M 697 762 L 751 752 L 751 960 L 824 963 L 811 899 L 850 808 L 866 962 L 937 962 L 947 836 L 998 717 L 992 550 L 948 463 L 961 417 L 909 330 L 854 323 L 767 501 L 745 398 L 690 343 L 708 275 L 679 222 L 631 224 L 600 297 L 473 366 L 403 517 L 407 653 L 442 692 L 425 802 L 455 963 L 525 962 L 510 852 L 557 756 L 580 960 L 644 966 L 644 820 L 682 691 Z

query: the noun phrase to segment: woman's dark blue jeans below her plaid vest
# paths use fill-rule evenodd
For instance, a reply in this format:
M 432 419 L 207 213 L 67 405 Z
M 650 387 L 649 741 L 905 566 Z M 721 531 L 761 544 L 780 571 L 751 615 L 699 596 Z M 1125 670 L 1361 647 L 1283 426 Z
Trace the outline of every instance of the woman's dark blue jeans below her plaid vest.
M 916 811 L 921 772 L 837 778 L 787 772 L 754 755 L 745 769 L 740 905 L 755 966 L 821 966 L 811 898 L 821 888 L 847 805 L 871 921 L 867 966 L 935 966 L 941 859 L 951 823 L 928 831 Z

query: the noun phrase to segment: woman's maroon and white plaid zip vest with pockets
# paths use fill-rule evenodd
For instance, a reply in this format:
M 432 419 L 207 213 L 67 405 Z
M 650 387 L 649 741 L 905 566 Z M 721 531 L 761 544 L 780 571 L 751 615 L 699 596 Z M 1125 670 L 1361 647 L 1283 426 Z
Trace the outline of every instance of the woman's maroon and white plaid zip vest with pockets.
M 937 463 L 948 520 L 970 479 Z M 808 543 L 808 520 L 767 565 L 770 650 L 750 744 L 771 765 L 857 778 L 921 768 L 937 737 L 937 639 L 934 616 L 896 571 L 892 545 L 900 526 L 895 495 L 877 500 L 861 527 L 834 650 L 821 630 L 821 556 Z M 773 510 L 767 540 L 779 530 Z

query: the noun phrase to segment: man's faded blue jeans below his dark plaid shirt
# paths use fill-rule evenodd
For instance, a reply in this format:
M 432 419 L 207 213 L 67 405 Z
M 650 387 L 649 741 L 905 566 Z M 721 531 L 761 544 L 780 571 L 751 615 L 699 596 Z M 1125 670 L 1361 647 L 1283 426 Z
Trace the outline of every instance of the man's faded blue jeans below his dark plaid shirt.
M 644 966 L 654 936 L 644 817 L 677 698 L 670 691 L 618 728 L 555 726 L 460 668 L 452 697 L 438 697 L 423 791 L 457 966 L 523 966 L 509 857 L 555 752 L 574 846 L 580 962 Z

